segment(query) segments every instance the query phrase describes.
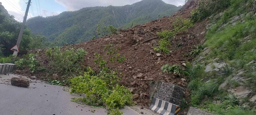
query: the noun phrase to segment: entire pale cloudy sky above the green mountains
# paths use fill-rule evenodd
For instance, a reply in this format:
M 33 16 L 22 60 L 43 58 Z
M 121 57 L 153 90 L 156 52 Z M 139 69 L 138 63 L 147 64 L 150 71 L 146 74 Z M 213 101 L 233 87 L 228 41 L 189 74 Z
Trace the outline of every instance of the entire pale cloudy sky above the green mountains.
M 123 6 L 141 0 L 31 0 L 28 18 L 36 16 L 53 16 L 63 11 L 76 11 L 84 7 L 94 6 Z M 185 0 L 163 0 L 167 4 L 183 5 Z M 0 0 L 4 8 L 14 18 L 22 22 L 28 0 Z

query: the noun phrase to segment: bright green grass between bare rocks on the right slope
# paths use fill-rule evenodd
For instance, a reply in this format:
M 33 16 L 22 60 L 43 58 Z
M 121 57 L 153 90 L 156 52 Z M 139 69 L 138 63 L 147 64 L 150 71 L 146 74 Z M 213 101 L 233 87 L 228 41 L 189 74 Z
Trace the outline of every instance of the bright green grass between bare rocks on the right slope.
M 245 79 L 249 79 L 245 83 L 245 87 L 256 90 L 256 64 L 248 65 L 249 62 L 256 60 L 256 16 L 254 14 L 246 15 L 250 11 L 253 1 L 230 0 L 230 7 L 224 11 L 222 17 L 218 20 L 211 20 L 216 23 L 205 36 L 204 47 L 209 47 L 211 52 L 205 56 L 204 62 L 209 64 L 218 58 L 228 66 L 224 68 L 224 75 L 205 73 L 204 65 L 195 65 L 189 70 L 188 88 L 191 94 L 191 106 L 218 115 L 255 115 L 256 109 L 244 109 L 238 103 L 239 101 L 247 103 L 248 99 L 238 101 L 225 89 L 218 90 L 220 84 L 228 76 L 241 69 L 244 71 Z M 228 22 L 237 15 L 243 16 L 241 17 L 243 22 L 238 20 L 236 25 L 230 25 Z M 215 67 L 212 66 L 212 68 Z M 229 81 L 229 84 L 231 87 L 240 86 L 234 80 Z M 220 100 L 221 103 L 213 104 L 214 100 Z

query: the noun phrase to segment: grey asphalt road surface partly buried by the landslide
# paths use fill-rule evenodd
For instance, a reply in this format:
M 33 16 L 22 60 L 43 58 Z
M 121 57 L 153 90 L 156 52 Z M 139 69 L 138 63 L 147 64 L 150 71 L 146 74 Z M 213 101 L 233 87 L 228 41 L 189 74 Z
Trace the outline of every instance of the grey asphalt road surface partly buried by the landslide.
M 29 88 L 10 85 L 10 79 L 17 75 L 0 75 L 0 115 L 107 115 L 104 108 L 92 108 L 71 102 L 77 97 L 63 87 L 31 80 Z M 79 106 L 80 105 L 80 106 Z M 124 115 L 155 115 L 140 107 L 125 107 Z

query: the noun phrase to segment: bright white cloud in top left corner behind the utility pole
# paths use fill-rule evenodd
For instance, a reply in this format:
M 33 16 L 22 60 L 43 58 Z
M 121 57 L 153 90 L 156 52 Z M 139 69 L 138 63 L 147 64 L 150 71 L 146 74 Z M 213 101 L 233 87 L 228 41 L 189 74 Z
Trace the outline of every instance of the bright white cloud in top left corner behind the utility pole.
M 25 5 L 25 3 L 22 0 L 1 0 L 1 2 L 8 13 L 14 16 L 14 19 L 20 22 L 23 21 L 25 11 L 22 10 L 21 5 Z M 33 15 L 28 13 L 27 19 L 31 18 L 31 16 Z

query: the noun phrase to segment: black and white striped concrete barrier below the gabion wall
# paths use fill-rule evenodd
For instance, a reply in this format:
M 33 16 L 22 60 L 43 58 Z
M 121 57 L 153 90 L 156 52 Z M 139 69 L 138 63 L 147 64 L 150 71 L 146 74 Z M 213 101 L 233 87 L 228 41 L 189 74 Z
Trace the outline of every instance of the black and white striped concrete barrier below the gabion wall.
M 160 115 L 179 115 L 180 106 L 166 102 L 164 100 L 153 98 L 153 104 L 149 107 L 152 111 Z

